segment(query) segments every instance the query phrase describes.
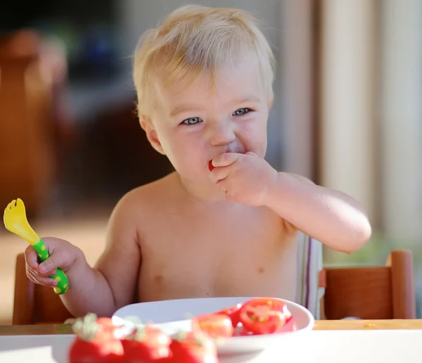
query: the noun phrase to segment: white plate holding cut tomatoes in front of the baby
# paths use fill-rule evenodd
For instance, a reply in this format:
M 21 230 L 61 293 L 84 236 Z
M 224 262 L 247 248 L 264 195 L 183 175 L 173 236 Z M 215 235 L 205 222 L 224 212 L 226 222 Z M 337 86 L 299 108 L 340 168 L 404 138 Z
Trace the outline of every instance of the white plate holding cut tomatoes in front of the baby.
M 199 314 L 217 312 L 237 303 L 243 303 L 248 298 L 199 298 L 164 300 L 152 303 L 138 303 L 127 305 L 117 310 L 113 315 L 114 324 L 125 324 L 130 328 L 132 324 L 125 321 L 128 317 L 137 317 L 143 323 L 153 322 L 165 333 L 173 335 L 178 331 L 190 331 L 191 320 L 189 317 Z M 293 340 L 305 338 L 305 334 L 312 331 L 314 317 L 312 314 L 296 303 L 283 300 L 293 314 L 297 331 L 288 333 L 265 334 L 261 336 L 235 336 L 216 340 L 219 354 L 233 354 L 240 352 L 253 352 L 264 350 L 271 345 L 285 345 L 286 350 L 292 345 Z

